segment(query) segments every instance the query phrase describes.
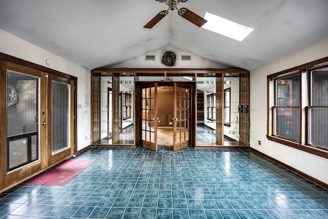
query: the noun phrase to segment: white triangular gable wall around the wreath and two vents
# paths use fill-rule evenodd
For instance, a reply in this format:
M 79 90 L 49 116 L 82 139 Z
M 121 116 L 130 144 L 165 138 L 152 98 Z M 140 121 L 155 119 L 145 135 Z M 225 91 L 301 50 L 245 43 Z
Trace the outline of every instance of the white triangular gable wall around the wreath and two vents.
M 163 54 L 167 51 L 173 51 L 176 54 L 176 65 L 168 67 L 162 64 Z M 147 55 L 155 55 L 155 61 L 145 61 L 145 55 L 141 55 L 130 61 L 120 63 L 111 68 L 227 68 L 221 64 L 212 62 L 206 58 L 185 52 L 174 47 L 168 46 Z M 181 61 L 181 55 L 191 55 L 191 61 Z

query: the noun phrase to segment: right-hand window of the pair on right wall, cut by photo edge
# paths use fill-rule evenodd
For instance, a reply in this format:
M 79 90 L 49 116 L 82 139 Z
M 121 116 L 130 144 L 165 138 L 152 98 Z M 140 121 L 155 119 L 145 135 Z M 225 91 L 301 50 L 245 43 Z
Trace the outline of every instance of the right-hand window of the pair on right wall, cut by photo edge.
M 328 67 L 311 70 L 311 98 L 307 107 L 308 144 L 328 150 Z

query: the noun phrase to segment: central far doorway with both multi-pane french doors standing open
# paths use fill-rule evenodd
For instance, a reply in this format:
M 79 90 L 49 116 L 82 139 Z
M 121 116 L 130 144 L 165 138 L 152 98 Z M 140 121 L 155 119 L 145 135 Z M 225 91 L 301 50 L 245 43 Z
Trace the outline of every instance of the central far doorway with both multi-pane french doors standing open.
M 151 150 L 157 146 L 173 151 L 192 144 L 194 121 L 192 83 L 136 83 L 139 90 L 139 142 Z

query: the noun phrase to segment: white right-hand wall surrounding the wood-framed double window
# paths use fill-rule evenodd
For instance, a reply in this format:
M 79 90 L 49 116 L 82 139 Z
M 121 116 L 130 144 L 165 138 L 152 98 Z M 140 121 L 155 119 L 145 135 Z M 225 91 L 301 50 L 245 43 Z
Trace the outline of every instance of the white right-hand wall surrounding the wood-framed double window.
M 328 159 L 269 141 L 267 75 L 328 56 L 328 38 L 251 71 L 251 147 L 328 184 Z M 261 145 L 257 145 L 261 141 Z

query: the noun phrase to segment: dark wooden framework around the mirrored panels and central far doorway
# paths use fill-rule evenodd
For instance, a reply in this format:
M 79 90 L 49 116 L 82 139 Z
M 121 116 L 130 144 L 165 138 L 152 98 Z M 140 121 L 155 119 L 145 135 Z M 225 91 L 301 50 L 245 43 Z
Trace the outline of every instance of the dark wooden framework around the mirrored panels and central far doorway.
M 226 145 L 196 145 L 196 130 L 197 130 L 197 123 L 194 118 L 197 117 L 196 115 L 196 97 L 197 97 L 197 83 L 198 77 L 216 77 L 218 74 L 223 75 L 223 78 L 226 76 L 238 76 L 242 77 L 242 81 L 240 81 L 240 84 L 242 83 L 243 86 L 240 86 L 239 92 L 240 95 L 243 95 L 243 98 L 240 98 L 240 103 L 243 105 L 248 105 L 250 107 L 249 99 L 250 99 L 250 71 L 246 69 L 241 69 L 241 68 L 95 68 L 91 70 L 91 88 L 92 92 L 95 92 L 96 94 L 99 92 L 97 90 L 97 77 L 99 77 L 102 74 L 122 74 L 122 75 L 134 75 L 134 122 L 135 124 L 139 124 L 139 103 L 137 101 L 138 95 L 139 95 L 139 89 L 137 87 L 138 83 L 146 83 L 146 81 L 140 81 L 141 77 L 144 76 L 160 76 L 163 78 L 164 81 L 158 82 L 158 85 L 160 86 L 160 83 L 164 82 L 172 82 L 170 81 L 171 77 L 170 76 L 188 76 L 192 81 L 176 81 L 178 83 L 194 83 L 193 89 L 194 91 L 191 92 L 193 95 L 192 100 L 194 102 L 194 106 L 192 107 L 193 114 L 192 114 L 192 121 L 194 121 L 194 124 L 191 127 L 191 146 L 192 147 L 197 147 L 197 148 L 222 148 L 225 147 Z M 169 77 L 168 77 L 169 76 Z M 222 77 L 222 76 L 220 76 Z M 153 81 L 154 82 L 154 81 Z M 221 82 L 220 82 L 221 84 Z M 223 92 L 223 90 L 222 90 Z M 194 101 L 195 100 L 195 101 Z M 91 135 L 92 140 L 95 140 L 92 145 L 99 145 L 96 144 L 97 141 L 97 131 L 98 131 L 98 118 L 100 117 L 99 115 L 96 115 L 96 111 L 98 111 L 98 105 L 97 105 L 97 97 L 96 95 L 91 96 Z M 222 105 L 222 104 L 221 104 Z M 218 106 L 218 108 L 221 108 Z M 222 111 L 223 113 L 223 111 Z M 250 119 L 250 112 L 248 113 L 243 113 L 243 115 Z M 221 127 L 221 125 L 220 125 Z M 229 145 L 229 146 L 237 146 L 237 147 L 249 147 L 249 133 L 248 133 L 248 125 L 246 123 L 240 124 L 240 138 L 243 137 L 243 139 L 240 139 L 240 143 L 238 142 L 238 145 Z M 243 131 L 243 133 L 241 133 Z M 222 130 L 221 130 L 222 132 Z M 140 130 L 137 125 L 134 126 L 134 133 L 135 133 L 135 145 L 140 145 Z M 220 133 L 221 134 L 221 133 Z M 221 142 L 221 141 L 219 141 Z M 106 144 L 100 144 L 106 146 Z M 113 144 L 112 144 L 113 145 Z M 127 147 L 131 145 L 120 145 L 121 147 Z

